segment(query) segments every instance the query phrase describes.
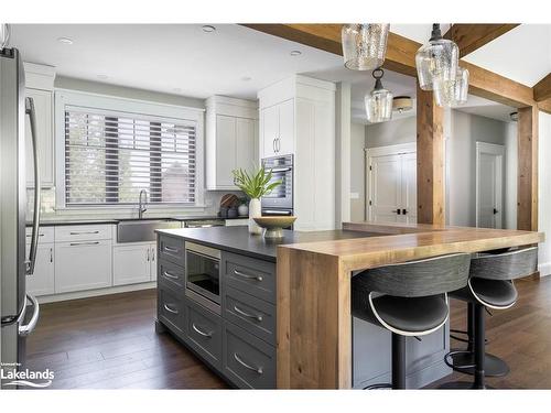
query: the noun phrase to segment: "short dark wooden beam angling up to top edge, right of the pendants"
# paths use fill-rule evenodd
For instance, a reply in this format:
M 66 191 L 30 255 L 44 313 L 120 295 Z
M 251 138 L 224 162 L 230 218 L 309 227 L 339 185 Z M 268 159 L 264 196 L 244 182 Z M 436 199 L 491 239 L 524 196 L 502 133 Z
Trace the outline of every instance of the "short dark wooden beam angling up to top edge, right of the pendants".
M 519 24 L 452 24 L 444 34 L 445 39 L 453 40 L 460 47 L 460 58 L 480 48 L 486 43 L 515 29 Z

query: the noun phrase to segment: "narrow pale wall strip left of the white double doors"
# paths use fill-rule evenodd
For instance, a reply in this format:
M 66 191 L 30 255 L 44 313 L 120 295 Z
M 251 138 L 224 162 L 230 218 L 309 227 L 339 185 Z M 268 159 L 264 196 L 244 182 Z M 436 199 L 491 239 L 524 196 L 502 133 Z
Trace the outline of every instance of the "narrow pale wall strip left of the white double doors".
M 366 166 L 365 166 L 366 126 L 350 126 L 350 220 L 366 218 Z M 357 195 L 357 196 L 356 196 Z

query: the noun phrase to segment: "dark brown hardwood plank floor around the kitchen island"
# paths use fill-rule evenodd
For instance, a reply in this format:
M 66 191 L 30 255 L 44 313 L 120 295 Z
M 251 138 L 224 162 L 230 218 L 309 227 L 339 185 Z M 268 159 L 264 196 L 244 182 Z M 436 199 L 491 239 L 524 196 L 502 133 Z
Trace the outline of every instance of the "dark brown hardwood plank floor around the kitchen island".
M 488 384 L 551 389 L 551 278 L 517 287 L 517 305 L 487 317 L 487 350 L 511 368 Z M 28 367 L 53 370 L 53 389 L 227 388 L 172 336 L 154 332 L 155 304 L 154 290 L 43 304 Z M 464 328 L 465 316 L 466 305 L 452 301 L 452 327 Z M 458 379 L 471 380 L 453 373 L 440 382 Z

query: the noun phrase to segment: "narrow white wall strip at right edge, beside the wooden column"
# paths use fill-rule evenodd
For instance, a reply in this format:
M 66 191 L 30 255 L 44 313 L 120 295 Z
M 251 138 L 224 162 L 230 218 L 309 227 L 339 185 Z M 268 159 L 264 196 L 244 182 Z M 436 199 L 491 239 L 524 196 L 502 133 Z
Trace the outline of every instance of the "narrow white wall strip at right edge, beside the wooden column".
M 540 243 L 538 269 L 541 275 L 551 274 L 551 115 L 540 112 L 538 186 L 539 219 L 538 229 L 545 233 L 545 241 Z

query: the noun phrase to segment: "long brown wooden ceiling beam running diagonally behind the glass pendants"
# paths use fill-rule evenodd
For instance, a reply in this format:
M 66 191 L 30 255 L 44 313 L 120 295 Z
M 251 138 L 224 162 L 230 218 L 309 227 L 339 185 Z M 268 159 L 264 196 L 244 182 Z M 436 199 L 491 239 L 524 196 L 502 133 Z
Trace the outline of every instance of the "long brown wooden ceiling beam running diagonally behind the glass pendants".
M 342 24 L 244 24 L 247 28 L 320 48 L 336 55 L 343 54 Z M 383 67 L 407 76 L 417 77 L 415 53 L 421 44 L 389 33 Z M 469 93 L 503 105 L 523 108 L 533 106 L 531 87 L 508 79 L 490 70 L 461 61 L 469 72 Z

